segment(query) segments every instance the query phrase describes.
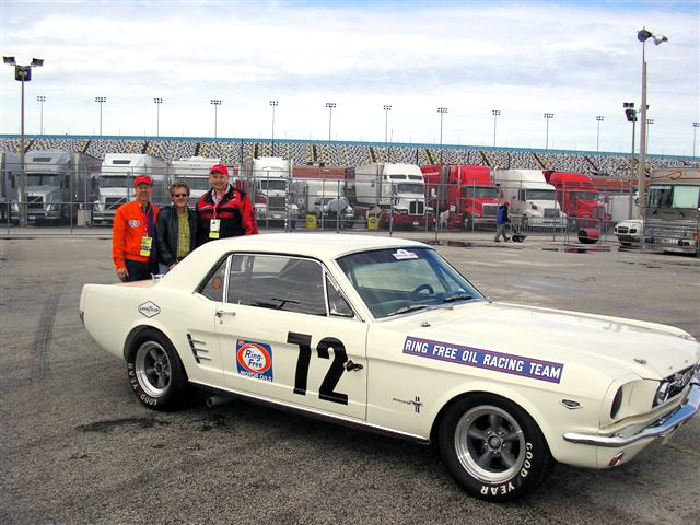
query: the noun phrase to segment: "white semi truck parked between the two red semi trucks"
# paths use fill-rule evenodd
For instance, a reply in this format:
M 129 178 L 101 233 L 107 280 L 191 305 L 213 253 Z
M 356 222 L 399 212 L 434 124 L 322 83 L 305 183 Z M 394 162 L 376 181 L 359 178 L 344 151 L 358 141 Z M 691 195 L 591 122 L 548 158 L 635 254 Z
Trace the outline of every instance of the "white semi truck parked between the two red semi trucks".
M 541 170 L 494 170 L 501 201 L 509 203 L 509 218 L 521 228 L 563 229 L 567 214 L 557 201 L 557 189 Z

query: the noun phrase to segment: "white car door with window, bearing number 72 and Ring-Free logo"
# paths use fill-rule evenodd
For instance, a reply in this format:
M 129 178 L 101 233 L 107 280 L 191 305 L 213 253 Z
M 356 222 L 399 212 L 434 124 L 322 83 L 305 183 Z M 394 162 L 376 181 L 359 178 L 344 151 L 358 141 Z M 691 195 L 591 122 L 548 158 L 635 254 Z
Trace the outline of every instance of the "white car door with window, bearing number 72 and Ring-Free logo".
M 228 387 L 365 419 L 366 325 L 332 282 L 314 259 L 231 255 L 214 323 Z

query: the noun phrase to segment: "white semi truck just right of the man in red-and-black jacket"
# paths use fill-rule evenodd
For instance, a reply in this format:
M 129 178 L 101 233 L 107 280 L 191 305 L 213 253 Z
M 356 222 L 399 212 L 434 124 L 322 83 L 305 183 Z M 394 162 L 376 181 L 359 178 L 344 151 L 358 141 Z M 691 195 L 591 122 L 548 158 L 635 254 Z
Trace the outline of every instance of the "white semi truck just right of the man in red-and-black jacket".
M 299 207 L 292 191 L 292 161 L 281 156 L 248 158 L 241 182 L 255 205 L 259 226 L 295 228 Z

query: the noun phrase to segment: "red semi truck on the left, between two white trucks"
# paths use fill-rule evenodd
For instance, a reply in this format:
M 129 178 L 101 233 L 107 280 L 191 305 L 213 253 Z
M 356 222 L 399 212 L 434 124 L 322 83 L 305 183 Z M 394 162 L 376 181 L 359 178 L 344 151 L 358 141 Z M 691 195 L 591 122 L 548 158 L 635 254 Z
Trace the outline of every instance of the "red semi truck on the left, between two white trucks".
M 485 166 L 448 164 L 422 166 L 431 206 L 441 225 L 471 230 L 476 224 L 495 224 L 498 189 Z

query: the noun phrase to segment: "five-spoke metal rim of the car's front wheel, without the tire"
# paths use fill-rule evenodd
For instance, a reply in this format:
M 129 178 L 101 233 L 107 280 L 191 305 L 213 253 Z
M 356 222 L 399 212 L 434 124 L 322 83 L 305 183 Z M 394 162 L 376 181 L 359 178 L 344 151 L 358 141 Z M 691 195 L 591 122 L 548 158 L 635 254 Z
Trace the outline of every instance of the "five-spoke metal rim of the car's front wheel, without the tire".
M 525 436 L 505 410 L 482 405 L 466 411 L 454 433 L 455 453 L 464 469 L 485 483 L 513 478 L 525 463 Z

